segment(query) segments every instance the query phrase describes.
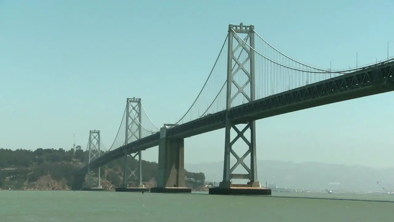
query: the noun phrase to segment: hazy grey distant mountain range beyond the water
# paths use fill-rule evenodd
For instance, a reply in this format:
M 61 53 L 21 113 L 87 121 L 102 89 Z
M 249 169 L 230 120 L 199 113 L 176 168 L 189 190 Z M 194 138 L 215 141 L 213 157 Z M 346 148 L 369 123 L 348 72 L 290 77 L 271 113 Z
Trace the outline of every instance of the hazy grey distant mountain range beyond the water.
M 379 181 L 386 190 L 394 192 L 394 167 L 375 169 L 366 166 L 319 162 L 294 163 L 275 160 L 257 160 L 257 166 L 258 180 L 261 184 L 267 182 L 287 188 L 383 191 L 376 183 Z M 218 182 L 223 179 L 223 162 L 185 163 L 185 169 L 192 172 L 203 172 L 206 181 Z

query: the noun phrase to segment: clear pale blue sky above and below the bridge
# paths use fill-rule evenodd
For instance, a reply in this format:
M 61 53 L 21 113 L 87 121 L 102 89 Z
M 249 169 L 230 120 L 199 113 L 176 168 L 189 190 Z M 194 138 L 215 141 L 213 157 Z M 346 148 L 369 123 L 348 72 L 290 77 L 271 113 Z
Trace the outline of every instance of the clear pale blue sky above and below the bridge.
M 394 40 L 393 8 L 392 0 L 0 0 L 0 147 L 70 149 L 73 133 L 86 147 L 93 129 L 109 147 L 126 97 L 141 97 L 156 125 L 173 122 L 202 87 L 229 23 L 254 24 L 307 64 L 353 67 L 361 50 L 359 65 L 370 64 Z M 258 158 L 394 166 L 393 99 L 259 120 Z M 223 131 L 185 144 L 187 162 L 223 159 Z M 156 161 L 157 149 L 143 157 Z

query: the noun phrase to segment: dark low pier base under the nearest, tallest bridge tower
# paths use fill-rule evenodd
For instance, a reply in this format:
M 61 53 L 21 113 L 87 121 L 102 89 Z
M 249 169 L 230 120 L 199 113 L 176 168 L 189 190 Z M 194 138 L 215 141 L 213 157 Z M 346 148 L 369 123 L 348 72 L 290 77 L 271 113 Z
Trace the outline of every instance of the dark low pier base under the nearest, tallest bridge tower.
M 213 187 L 209 188 L 209 194 L 213 195 L 271 195 L 271 189 L 262 187 Z

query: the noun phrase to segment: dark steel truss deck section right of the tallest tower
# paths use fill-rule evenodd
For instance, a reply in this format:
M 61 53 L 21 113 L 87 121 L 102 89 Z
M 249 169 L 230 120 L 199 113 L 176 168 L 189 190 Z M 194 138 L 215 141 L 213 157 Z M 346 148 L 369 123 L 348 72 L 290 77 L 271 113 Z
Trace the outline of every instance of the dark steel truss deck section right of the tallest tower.
M 234 107 L 230 119 L 244 122 L 394 90 L 394 62 L 384 62 Z

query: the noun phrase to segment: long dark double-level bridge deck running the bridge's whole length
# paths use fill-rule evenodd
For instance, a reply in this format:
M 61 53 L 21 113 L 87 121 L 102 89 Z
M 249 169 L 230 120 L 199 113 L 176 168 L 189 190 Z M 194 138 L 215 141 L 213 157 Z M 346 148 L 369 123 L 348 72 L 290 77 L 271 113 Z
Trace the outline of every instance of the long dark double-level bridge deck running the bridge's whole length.
M 394 90 L 394 61 L 366 66 L 362 70 L 295 88 L 233 107 L 229 117 L 234 123 L 258 120 L 301 109 L 308 109 L 364 96 Z M 169 138 L 186 138 L 225 127 L 225 111 L 214 113 L 167 130 Z M 102 166 L 128 154 L 158 146 L 160 134 L 144 137 L 119 147 L 91 163 L 92 167 Z M 82 169 L 86 170 L 86 169 Z

